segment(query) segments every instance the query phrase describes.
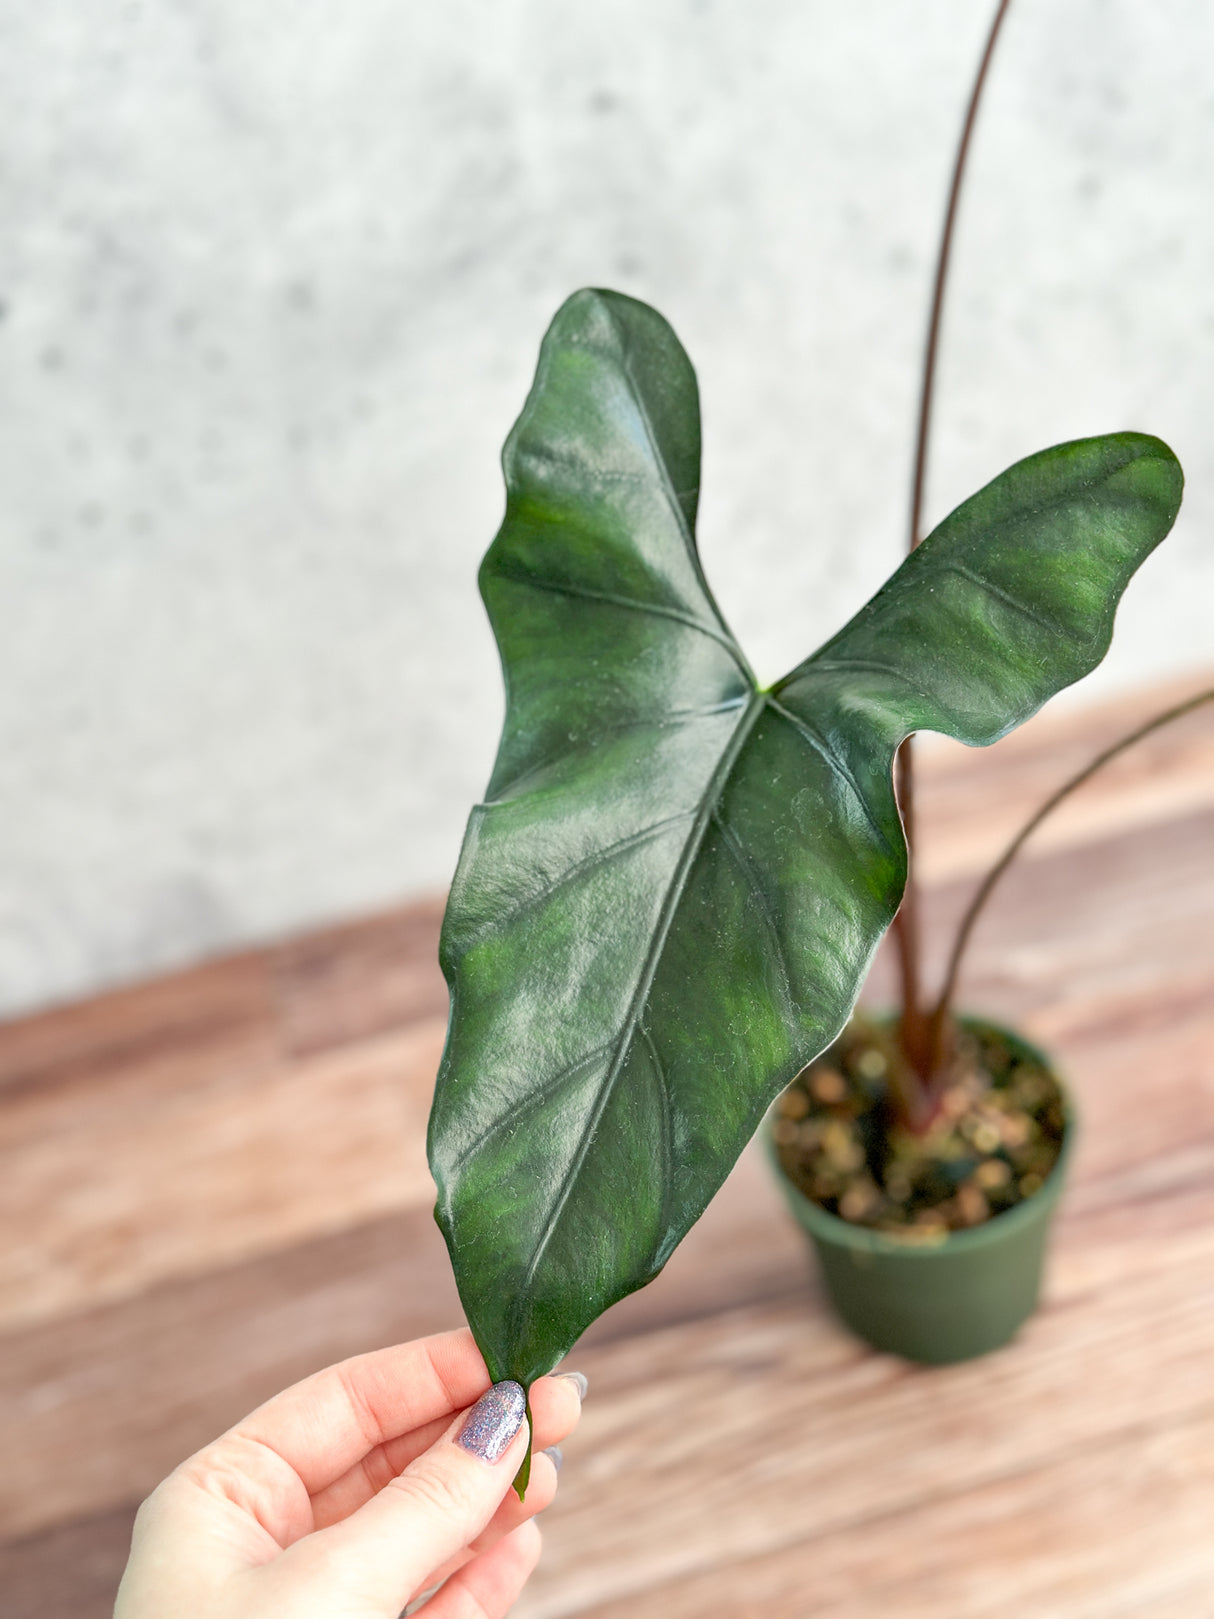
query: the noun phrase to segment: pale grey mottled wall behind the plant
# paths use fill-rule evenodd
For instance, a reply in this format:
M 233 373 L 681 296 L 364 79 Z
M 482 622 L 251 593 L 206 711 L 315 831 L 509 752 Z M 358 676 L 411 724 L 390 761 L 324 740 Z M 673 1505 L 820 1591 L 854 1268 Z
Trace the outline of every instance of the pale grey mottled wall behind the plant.
M 0 1013 L 440 889 L 500 442 L 586 283 L 704 406 L 770 678 L 903 544 L 978 0 L 0 0 Z M 1080 434 L 1190 494 L 1109 691 L 1211 661 L 1214 13 L 1018 0 L 929 516 Z

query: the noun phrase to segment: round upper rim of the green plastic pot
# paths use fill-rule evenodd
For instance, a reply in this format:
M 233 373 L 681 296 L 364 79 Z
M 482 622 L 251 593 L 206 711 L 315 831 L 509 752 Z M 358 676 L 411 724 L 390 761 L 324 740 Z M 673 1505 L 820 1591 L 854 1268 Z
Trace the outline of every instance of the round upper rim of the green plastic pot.
M 881 1022 L 881 1015 L 872 1015 L 872 1022 Z M 850 1022 L 850 1018 L 848 1018 Z M 932 1242 L 915 1242 L 905 1237 L 894 1237 L 884 1230 L 874 1230 L 871 1226 L 855 1226 L 851 1221 L 842 1219 L 838 1214 L 832 1214 L 824 1209 L 821 1203 L 814 1203 L 811 1196 L 806 1196 L 798 1185 L 795 1185 L 785 1174 L 783 1164 L 780 1162 L 775 1141 L 772 1140 L 772 1125 L 775 1122 L 775 1104 L 779 1096 L 767 1109 L 762 1122 L 762 1140 L 767 1149 L 767 1156 L 775 1169 L 780 1180 L 780 1188 L 785 1196 L 796 1203 L 798 1211 L 804 1224 L 811 1229 L 813 1235 L 822 1242 L 829 1242 L 835 1248 L 851 1248 L 856 1253 L 869 1255 L 890 1255 L 897 1258 L 905 1258 L 908 1263 L 926 1263 L 929 1260 L 939 1258 L 942 1253 L 973 1253 L 983 1248 L 989 1248 L 1000 1242 L 1005 1242 L 1015 1235 L 1023 1226 L 1031 1224 L 1041 1216 L 1047 1214 L 1051 1208 L 1057 1203 L 1062 1193 L 1062 1185 L 1065 1180 L 1067 1164 L 1070 1161 L 1072 1149 L 1075 1146 L 1076 1117 L 1075 1117 L 1075 1099 L 1070 1086 L 1065 1083 L 1059 1073 L 1054 1060 L 1046 1056 L 1033 1041 L 1025 1039 L 1013 1028 L 1007 1028 L 1004 1023 L 997 1023 L 994 1018 L 979 1017 L 976 1013 L 958 1015 L 958 1023 L 979 1023 L 984 1028 L 997 1030 L 1000 1035 L 1008 1036 L 1015 1044 L 1021 1046 L 1025 1051 L 1031 1052 L 1033 1057 L 1042 1064 L 1049 1072 L 1051 1078 L 1057 1083 L 1062 1091 L 1062 1107 L 1063 1107 L 1063 1132 L 1062 1145 L 1059 1148 L 1059 1156 L 1054 1159 L 1051 1172 L 1046 1175 L 1041 1187 L 1026 1198 L 1023 1203 L 1017 1203 L 1012 1209 L 1004 1209 L 1000 1214 L 991 1216 L 991 1219 L 983 1221 L 981 1226 L 973 1226 L 970 1230 L 950 1230 L 947 1235 L 936 1239 Z M 845 1025 L 847 1026 L 847 1025 Z M 840 1030 L 842 1033 L 842 1030 Z M 837 1038 L 837 1036 L 835 1036 Z M 782 1093 L 783 1094 L 783 1093 Z

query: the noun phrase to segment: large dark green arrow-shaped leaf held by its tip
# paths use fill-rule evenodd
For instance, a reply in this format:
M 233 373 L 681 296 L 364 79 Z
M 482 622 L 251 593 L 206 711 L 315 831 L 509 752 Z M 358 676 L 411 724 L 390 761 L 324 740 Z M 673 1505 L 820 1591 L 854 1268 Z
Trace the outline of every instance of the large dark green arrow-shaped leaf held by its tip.
M 528 1384 L 845 1022 L 906 874 L 898 742 L 994 742 L 1099 662 L 1182 479 L 1141 434 L 1020 461 L 759 691 L 696 555 L 696 380 L 659 314 L 570 298 L 503 465 L 507 719 L 444 926 L 431 1162 L 481 1350 Z

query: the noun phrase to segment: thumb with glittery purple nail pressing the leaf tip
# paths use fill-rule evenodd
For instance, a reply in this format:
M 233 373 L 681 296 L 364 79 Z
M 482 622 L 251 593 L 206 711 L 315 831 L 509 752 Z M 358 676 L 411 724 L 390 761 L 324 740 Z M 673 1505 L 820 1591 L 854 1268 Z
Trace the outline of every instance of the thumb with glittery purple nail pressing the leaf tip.
M 495 1383 L 429 1451 L 342 1523 L 296 1541 L 272 1567 L 361 1595 L 397 1614 L 489 1523 L 526 1452 L 526 1396 Z M 298 1554 L 298 1556 L 296 1556 Z

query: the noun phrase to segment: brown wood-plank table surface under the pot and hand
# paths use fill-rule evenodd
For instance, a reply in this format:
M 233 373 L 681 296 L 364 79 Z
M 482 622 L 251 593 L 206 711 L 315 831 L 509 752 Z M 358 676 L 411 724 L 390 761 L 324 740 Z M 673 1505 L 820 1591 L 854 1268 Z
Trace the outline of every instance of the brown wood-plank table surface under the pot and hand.
M 937 958 L 1018 819 L 1201 683 L 924 746 Z M 320 1365 L 460 1319 L 422 1151 L 439 910 L 0 1028 L 3 1619 L 102 1619 L 176 1460 Z M 963 1366 L 872 1353 L 751 1148 L 571 1357 L 591 1396 L 518 1614 L 1214 1616 L 1214 708 L 1042 831 L 965 1001 L 1078 1096 L 1041 1313 Z

